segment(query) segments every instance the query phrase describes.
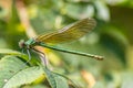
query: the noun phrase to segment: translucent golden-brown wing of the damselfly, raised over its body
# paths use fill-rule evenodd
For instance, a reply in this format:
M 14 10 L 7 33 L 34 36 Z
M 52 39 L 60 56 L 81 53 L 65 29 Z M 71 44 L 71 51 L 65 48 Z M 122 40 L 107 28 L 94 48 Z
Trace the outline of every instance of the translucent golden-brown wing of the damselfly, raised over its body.
M 83 19 L 57 32 L 39 35 L 35 41 L 50 44 L 71 42 L 89 33 L 95 25 L 94 19 Z

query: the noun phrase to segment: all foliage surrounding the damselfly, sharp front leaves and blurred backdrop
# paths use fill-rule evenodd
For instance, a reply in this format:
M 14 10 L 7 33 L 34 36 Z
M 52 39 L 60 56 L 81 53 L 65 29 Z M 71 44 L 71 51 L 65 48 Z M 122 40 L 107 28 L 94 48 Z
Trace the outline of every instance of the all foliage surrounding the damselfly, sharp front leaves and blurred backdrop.
M 132 88 L 132 15 L 130 0 L 1 0 L 0 88 Z M 49 61 L 45 68 L 34 52 L 30 62 L 20 53 L 21 38 L 60 30 L 83 18 L 96 20 L 93 32 L 57 46 L 102 55 L 104 61 L 41 48 Z

